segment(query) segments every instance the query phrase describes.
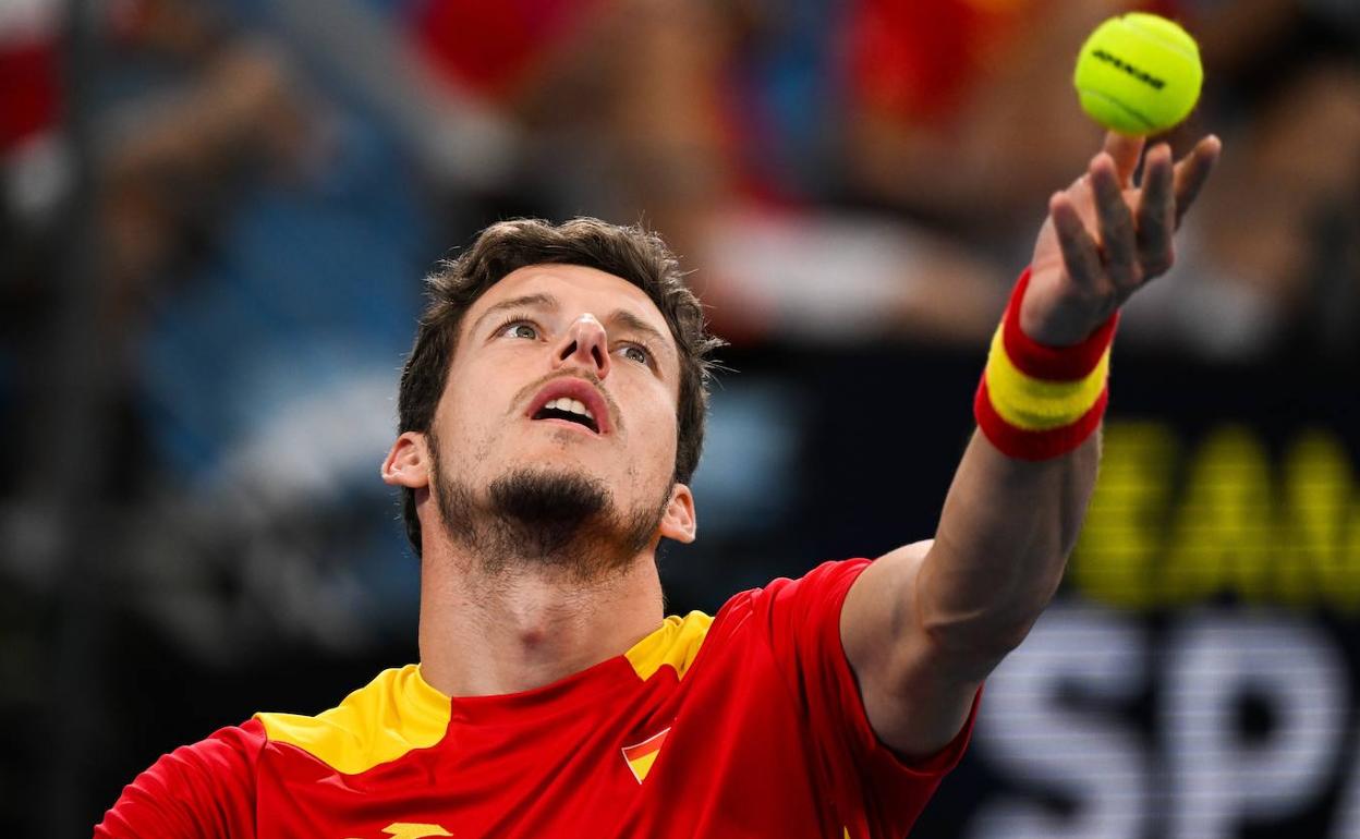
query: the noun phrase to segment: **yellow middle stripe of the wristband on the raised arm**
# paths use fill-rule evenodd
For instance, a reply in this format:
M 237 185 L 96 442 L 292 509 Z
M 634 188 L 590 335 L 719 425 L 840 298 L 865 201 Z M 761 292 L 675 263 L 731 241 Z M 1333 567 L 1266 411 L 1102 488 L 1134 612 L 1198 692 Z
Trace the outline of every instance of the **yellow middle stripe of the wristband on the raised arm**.
M 987 355 L 987 396 L 997 415 L 1023 431 L 1050 431 L 1077 422 L 1100 398 L 1110 374 L 1110 348 L 1084 378 L 1055 382 L 1021 373 L 1006 355 L 1001 329 Z

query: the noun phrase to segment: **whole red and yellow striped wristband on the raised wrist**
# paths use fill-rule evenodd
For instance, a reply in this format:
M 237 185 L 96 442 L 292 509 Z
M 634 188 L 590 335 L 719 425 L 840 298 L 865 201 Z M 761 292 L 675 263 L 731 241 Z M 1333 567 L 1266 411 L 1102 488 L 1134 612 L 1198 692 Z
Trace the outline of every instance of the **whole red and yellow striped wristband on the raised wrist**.
M 991 340 L 972 412 L 1002 454 L 1038 461 L 1072 451 L 1100 426 L 1110 401 L 1110 344 L 1119 313 L 1074 347 L 1049 347 L 1020 329 L 1020 301 L 1028 287 L 1025 269 Z

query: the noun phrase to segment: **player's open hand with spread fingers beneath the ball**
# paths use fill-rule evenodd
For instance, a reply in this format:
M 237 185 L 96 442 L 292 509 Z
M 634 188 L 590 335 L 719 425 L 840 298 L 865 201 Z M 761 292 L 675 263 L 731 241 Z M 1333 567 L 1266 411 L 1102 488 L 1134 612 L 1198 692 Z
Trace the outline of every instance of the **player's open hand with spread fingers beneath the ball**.
M 1133 173 L 1144 140 L 1106 135 L 1087 173 L 1049 199 L 1020 328 L 1051 347 L 1080 344 L 1134 291 L 1171 268 L 1172 234 L 1219 159 L 1206 136 L 1172 163 L 1171 147 L 1148 151 L 1142 181 Z

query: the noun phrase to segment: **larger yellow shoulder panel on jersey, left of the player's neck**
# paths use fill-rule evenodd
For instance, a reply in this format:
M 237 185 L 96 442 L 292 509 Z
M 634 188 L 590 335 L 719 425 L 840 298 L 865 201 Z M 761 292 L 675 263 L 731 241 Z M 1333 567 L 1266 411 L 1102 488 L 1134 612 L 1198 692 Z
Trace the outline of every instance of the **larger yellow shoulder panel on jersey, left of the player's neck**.
M 337 772 L 358 775 L 439 742 L 449 727 L 449 698 L 412 664 L 378 673 L 316 717 L 256 714 L 256 719 L 272 742 L 295 745 Z

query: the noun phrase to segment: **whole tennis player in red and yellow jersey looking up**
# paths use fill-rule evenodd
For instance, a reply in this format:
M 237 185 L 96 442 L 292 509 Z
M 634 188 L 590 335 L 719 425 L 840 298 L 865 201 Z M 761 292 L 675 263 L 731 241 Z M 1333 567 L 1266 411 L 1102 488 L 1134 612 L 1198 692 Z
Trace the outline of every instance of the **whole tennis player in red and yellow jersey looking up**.
M 654 562 L 695 538 L 717 345 L 675 258 L 590 219 L 487 228 L 430 280 L 382 464 L 420 662 L 175 749 L 95 835 L 904 835 L 1058 586 L 1119 306 L 1170 268 L 1219 141 L 1152 148 L 1136 188 L 1142 151 L 1110 136 L 1050 200 L 934 538 L 714 617 L 665 617 Z

